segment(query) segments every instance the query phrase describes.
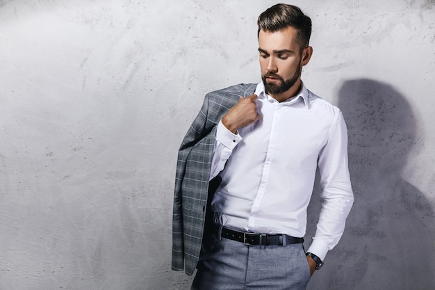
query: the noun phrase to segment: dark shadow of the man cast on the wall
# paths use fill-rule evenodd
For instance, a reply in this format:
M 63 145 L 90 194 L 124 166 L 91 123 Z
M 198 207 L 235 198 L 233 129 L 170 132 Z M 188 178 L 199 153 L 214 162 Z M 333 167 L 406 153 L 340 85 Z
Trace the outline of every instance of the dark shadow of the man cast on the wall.
M 370 79 L 345 81 L 338 106 L 349 132 L 355 202 L 343 238 L 308 289 L 435 289 L 434 209 L 401 176 L 418 146 L 411 106 L 388 84 Z M 320 209 L 315 196 L 309 225 Z

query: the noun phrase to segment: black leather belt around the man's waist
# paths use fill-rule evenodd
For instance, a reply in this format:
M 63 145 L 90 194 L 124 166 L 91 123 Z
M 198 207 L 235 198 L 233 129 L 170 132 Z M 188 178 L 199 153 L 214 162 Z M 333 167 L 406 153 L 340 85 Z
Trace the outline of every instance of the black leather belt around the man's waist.
M 219 233 L 219 225 L 213 225 L 213 233 Z M 295 238 L 286 234 L 256 234 L 253 232 L 239 232 L 227 227 L 222 227 L 221 236 L 225 239 L 239 241 L 245 245 L 283 245 L 283 239 L 286 239 L 286 245 L 290 243 L 304 243 L 304 238 Z

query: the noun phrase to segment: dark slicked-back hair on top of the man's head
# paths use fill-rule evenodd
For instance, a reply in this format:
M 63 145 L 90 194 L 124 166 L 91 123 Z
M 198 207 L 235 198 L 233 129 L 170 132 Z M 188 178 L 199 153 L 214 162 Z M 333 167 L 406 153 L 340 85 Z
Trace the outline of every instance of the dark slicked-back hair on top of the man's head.
M 275 32 L 287 27 L 296 29 L 297 43 L 300 49 L 309 45 L 311 37 L 311 18 L 304 15 L 299 7 L 289 4 L 276 4 L 258 16 L 258 32 Z

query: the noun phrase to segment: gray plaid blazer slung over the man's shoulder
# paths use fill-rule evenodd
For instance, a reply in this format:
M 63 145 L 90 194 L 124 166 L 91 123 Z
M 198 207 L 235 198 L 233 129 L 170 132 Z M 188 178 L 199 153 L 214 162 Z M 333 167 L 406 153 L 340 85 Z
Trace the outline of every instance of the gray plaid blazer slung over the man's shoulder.
M 174 188 L 172 270 L 192 275 L 204 233 L 211 158 L 216 124 L 240 96 L 249 97 L 256 84 L 239 84 L 210 92 L 181 143 Z

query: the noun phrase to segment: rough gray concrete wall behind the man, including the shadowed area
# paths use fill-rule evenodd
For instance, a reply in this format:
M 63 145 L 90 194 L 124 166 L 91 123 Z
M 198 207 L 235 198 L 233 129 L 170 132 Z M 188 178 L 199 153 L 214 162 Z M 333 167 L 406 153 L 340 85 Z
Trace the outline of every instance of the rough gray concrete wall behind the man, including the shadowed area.
M 0 1 L 1 290 L 188 289 L 170 271 L 177 148 L 206 92 L 260 80 L 274 3 Z M 435 289 L 435 2 L 293 3 L 355 192 L 309 289 Z

